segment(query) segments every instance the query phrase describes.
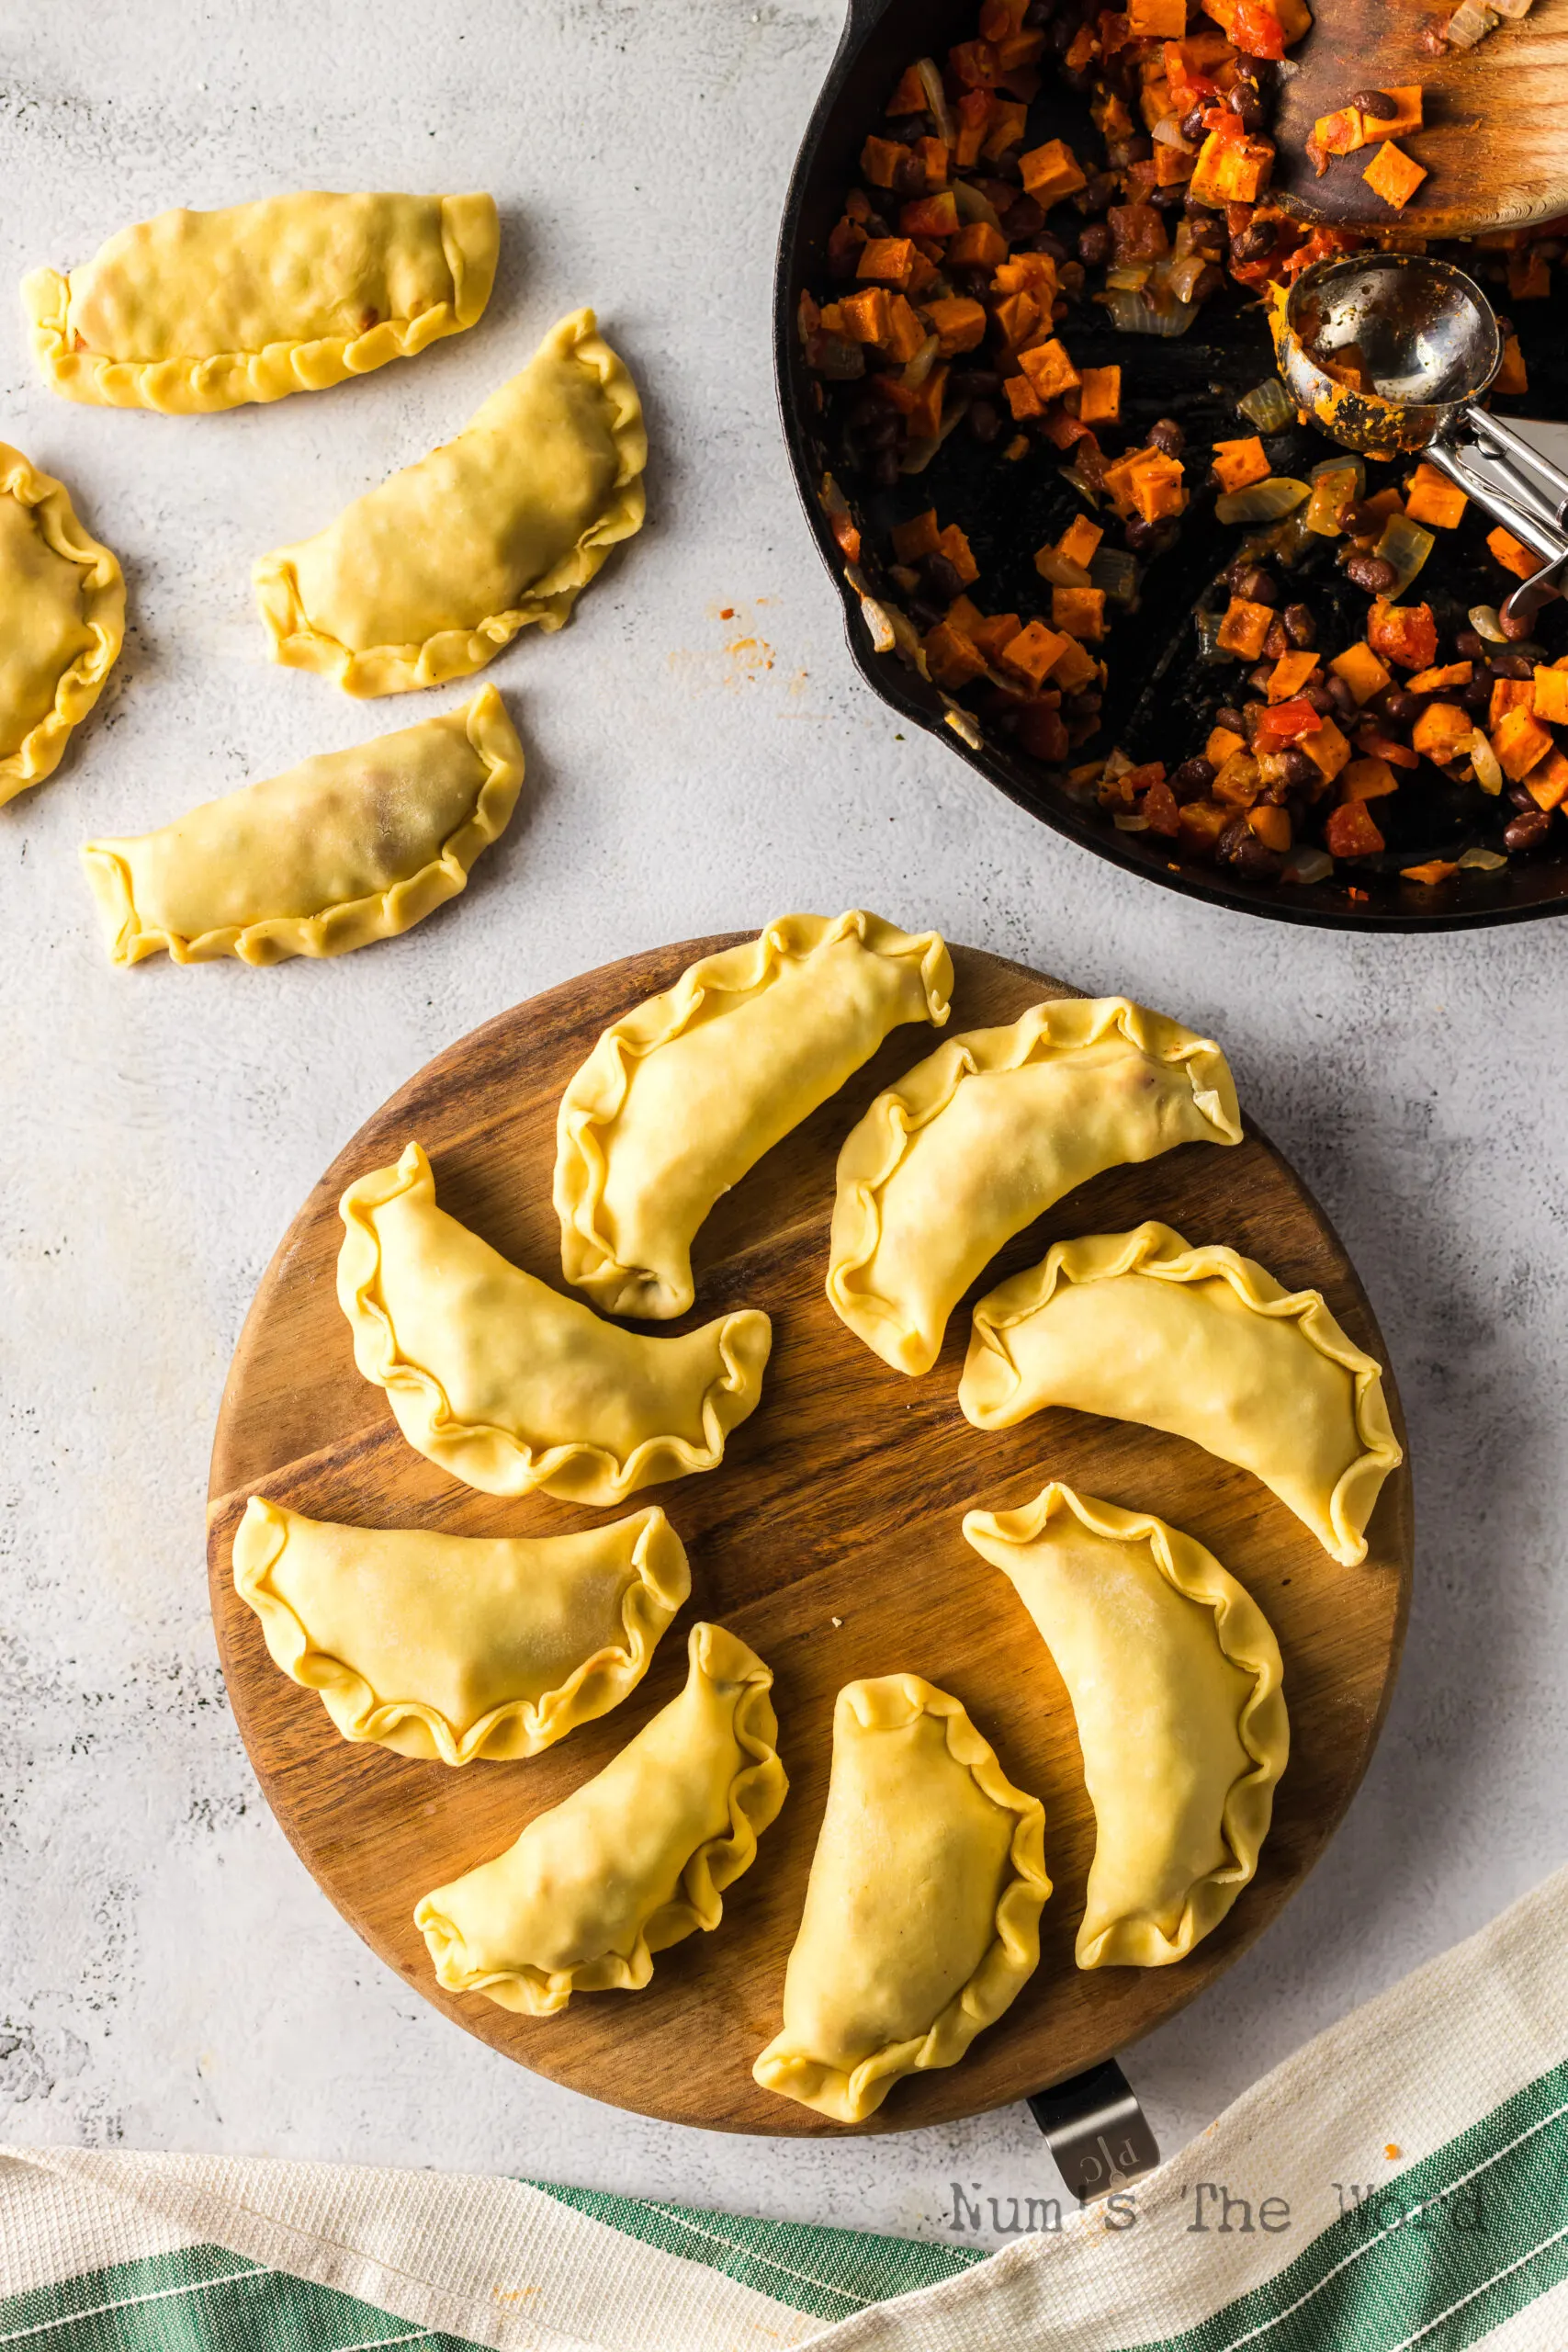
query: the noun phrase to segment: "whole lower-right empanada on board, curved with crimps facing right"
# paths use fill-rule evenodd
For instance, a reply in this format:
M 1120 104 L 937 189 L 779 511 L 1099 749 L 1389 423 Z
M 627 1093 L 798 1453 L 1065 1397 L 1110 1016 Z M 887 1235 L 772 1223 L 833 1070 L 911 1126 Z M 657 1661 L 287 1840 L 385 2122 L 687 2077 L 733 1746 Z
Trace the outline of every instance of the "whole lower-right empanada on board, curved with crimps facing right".
M 1011 1578 L 1072 1700 L 1095 1858 L 1079 1969 L 1159 1969 L 1258 1870 L 1291 1726 L 1279 1644 L 1213 1552 L 1051 1482 L 964 1534 Z

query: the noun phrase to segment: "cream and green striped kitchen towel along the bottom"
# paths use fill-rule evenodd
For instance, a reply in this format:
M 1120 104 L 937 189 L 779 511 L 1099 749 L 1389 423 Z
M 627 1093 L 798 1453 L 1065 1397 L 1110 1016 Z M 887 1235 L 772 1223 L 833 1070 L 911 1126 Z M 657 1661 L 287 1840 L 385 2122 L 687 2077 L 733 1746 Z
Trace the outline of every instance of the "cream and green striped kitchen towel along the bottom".
M 1568 1872 L 1006 2253 L 543 2183 L 0 2150 L 0 2352 L 1566 2352 Z

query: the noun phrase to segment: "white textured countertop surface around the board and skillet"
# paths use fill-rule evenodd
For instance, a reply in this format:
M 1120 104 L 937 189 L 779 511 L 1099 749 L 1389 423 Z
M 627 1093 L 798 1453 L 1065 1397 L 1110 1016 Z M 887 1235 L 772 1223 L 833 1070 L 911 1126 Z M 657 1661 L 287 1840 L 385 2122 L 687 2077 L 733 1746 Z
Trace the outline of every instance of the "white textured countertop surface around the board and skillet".
M 172 202 L 292 186 L 494 188 L 505 219 L 475 334 L 235 416 L 73 409 L 0 306 L 0 437 L 68 480 L 132 597 L 73 757 L 0 811 L 0 2138 L 524 2171 L 924 2234 L 954 2178 L 1051 2185 L 1023 2107 L 736 2143 L 508 2065 L 317 1893 L 223 1703 L 212 1421 L 322 1167 L 501 1007 L 795 906 L 933 922 L 1208 1028 L 1394 1352 L 1420 1517 L 1403 1679 L 1305 1893 L 1133 2051 L 1166 2147 L 1568 1846 L 1568 922 L 1354 943 L 1206 913 L 896 736 L 769 374 L 776 216 L 835 31 L 835 0 L 0 7 L 0 280 Z M 651 524 L 564 635 L 487 673 L 529 779 L 468 896 L 336 964 L 113 971 L 80 840 L 425 710 L 268 668 L 252 557 L 444 440 L 581 301 L 644 386 Z

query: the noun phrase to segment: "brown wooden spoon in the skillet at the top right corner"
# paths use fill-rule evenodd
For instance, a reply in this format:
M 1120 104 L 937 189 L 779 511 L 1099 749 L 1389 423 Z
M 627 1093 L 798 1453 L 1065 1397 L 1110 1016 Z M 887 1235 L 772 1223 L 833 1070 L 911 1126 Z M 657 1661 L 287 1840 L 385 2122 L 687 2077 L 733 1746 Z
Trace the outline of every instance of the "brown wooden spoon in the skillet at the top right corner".
M 1418 35 L 1453 0 L 1312 0 L 1314 28 L 1281 82 L 1272 193 L 1316 221 L 1455 238 L 1568 212 L 1568 0 L 1535 0 L 1474 49 L 1425 56 Z M 1363 181 L 1378 146 L 1316 179 L 1307 134 L 1356 89 L 1420 82 L 1425 129 L 1399 139 L 1427 179 L 1403 212 Z

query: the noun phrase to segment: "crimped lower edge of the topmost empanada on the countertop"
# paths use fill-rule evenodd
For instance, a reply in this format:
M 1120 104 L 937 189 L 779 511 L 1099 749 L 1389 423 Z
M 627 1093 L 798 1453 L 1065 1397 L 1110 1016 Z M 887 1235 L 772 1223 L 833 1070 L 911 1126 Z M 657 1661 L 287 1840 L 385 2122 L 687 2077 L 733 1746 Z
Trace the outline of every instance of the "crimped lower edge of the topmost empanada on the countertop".
M 261 350 L 167 360 L 110 360 L 106 353 L 73 350 L 71 278 L 52 268 L 28 270 L 21 280 L 21 308 L 33 362 L 66 400 L 99 409 L 212 416 L 249 402 L 284 400 L 289 393 L 324 393 L 348 376 L 369 376 L 388 360 L 414 360 L 442 336 L 473 327 L 489 303 L 501 254 L 494 195 L 442 198 L 442 252 L 451 270 L 451 301 L 433 303 L 418 318 L 386 318 L 364 334 L 268 343 Z

